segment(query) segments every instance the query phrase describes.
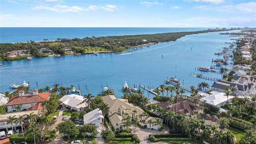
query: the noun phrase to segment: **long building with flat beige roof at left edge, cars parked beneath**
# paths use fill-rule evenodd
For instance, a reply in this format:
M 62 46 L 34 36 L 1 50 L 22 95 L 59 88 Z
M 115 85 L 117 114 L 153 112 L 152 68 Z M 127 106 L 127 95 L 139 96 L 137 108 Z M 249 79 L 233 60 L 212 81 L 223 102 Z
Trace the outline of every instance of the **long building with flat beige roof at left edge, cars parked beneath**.
M 40 110 L 26 110 L 26 111 L 21 111 L 21 112 L 12 112 L 12 113 L 4 113 L 4 114 L 0 114 L 0 131 L 5 131 L 8 132 L 8 130 L 12 130 L 12 125 L 11 124 L 7 124 L 8 120 L 8 116 L 15 116 L 14 119 L 16 120 L 18 118 L 18 116 L 24 116 L 24 115 L 29 115 L 30 113 L 36 114 L 37 116 L 40 115 Z M 26 116 L 24 116 L 24 118 L 26 118 Z M 14 121 L 15 121 L 14 120 Z M 30 121 L 27 121 L 25 123 L 22 122 L 22 126 L 23 128 L 28 126 L 30 124 Z M 16 129 L 20 129 L 21 130 L 21 125 L 20 123 L 15 124 L 13 122 L 13 130 L 15 131 Z

